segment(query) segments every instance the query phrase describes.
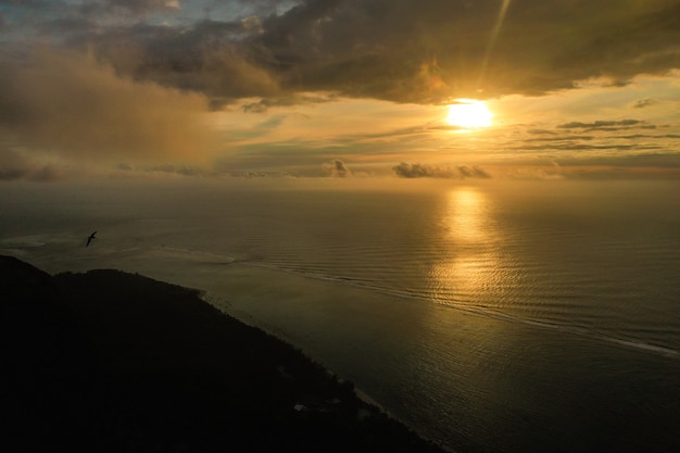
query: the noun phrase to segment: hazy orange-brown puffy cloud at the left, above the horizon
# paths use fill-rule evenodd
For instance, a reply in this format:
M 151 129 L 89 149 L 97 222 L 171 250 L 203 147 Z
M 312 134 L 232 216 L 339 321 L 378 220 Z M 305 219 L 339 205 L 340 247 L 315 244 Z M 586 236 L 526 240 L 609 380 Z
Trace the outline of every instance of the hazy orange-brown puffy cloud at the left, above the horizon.
M 0 134 L 37 154 L 201 162 L 212 146 L 202 96 L 122 78 L 87 54 L 0 53 Z

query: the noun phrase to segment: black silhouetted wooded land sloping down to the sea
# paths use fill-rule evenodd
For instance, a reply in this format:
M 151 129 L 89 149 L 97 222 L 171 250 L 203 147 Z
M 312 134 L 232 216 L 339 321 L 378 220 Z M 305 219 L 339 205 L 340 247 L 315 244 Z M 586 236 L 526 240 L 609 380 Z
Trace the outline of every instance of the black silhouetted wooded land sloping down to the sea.
M 3 430 L 27 436 L 26 451 L 442 451 L 199 290 L 119 270 L 50 276 L 12 257 L 0 264 L 3 324 L 13 324 L 2 355 L 16 373 L 2 382 L 4 418 L 14 416 Z M 35 341 L 17 343 L 29 328 Z

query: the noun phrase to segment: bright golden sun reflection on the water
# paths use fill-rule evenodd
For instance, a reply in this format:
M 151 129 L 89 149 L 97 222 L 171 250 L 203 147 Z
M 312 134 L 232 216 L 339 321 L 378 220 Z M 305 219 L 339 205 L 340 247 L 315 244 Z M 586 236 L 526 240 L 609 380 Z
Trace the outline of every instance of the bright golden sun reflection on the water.
M 481 189 L 457 187 L 446 193 L 442 223 L 442 259 L 431 272 L 433 297 L 446 304 L 475 303 L 499 284 L 492 203 Z

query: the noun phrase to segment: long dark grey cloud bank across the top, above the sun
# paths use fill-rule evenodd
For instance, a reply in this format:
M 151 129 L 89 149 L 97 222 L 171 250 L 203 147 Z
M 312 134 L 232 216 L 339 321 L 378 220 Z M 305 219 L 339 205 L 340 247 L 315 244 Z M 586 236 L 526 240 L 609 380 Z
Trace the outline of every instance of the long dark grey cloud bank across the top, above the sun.
M 315 90 L 439 103 L 537 95 L 590 77 L 624 85 L 680 67 L 678 0 L 513 0 L 498 36 L 501 0 L 303 0 L 281 15 L 276 3 L 197 1 L 176 10 L 161 0 L 84 3 L 110 14 L 181 18 L 166 25 L 104 21 L 101 12 L 64 3 L 61 18 L 71 28 L 45 21 L 53 38 L 67 33 L 67 46 L 93 49 L 119 73 L 202 91 L 214 105 Z M 22 4 L 30 11 L 38 3 Z M 190 22 L 191 5 L 214 11 L 211 20 Z M 230 5 L 257 16 L 217 14 Z M 76 18 L 90 22 L 74 28 Z

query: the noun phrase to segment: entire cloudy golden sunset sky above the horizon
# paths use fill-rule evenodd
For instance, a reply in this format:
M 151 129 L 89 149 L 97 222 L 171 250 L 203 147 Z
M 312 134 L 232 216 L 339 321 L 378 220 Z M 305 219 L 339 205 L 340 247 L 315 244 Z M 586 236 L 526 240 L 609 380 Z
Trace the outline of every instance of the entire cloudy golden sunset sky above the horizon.
M 680 177 L 680 0 L 0 0 L 0 180 Z

